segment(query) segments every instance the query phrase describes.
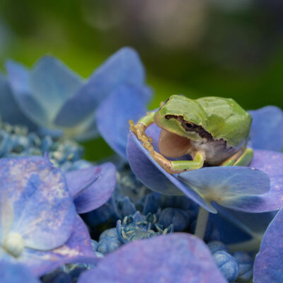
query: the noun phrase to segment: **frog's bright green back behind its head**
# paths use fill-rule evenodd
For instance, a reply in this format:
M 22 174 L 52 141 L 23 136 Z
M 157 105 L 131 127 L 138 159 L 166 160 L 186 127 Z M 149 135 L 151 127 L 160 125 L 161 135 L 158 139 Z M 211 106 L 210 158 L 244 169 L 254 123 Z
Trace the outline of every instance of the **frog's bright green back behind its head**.
M 231 98 L 204 97 L 196 100 L 207 114 L 207 131 L 214 139 L 225 139 L 230 146 L 239 146 L 248 139 L 252 118 Z

